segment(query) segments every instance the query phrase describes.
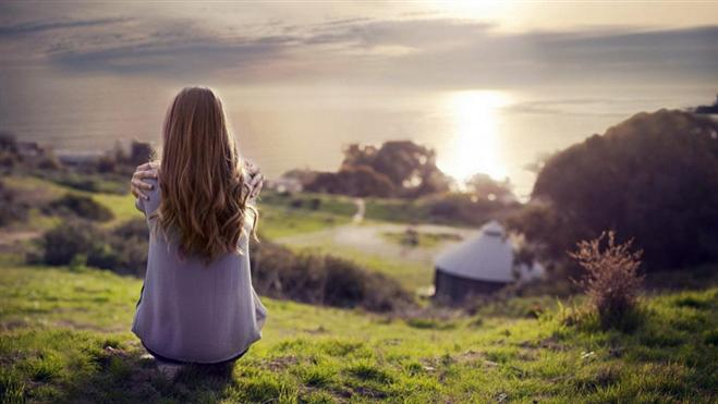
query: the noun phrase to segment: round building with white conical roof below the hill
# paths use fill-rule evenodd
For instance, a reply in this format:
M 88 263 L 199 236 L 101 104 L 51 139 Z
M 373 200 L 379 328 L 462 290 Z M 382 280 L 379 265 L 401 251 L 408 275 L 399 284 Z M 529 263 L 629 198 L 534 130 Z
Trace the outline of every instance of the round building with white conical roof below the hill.
M 518 262 L 513 243 L 497 221 L 484 224 L 478 234 L 440 254 L 435 269 L 434 297 L 447 303 L 491 294 L 508 284 L 545 274 L 539 264 Z

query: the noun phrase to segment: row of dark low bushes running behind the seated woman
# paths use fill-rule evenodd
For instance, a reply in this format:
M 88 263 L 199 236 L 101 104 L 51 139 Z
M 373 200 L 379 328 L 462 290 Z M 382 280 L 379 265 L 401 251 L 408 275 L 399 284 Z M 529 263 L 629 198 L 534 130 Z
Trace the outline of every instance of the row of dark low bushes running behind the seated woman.
M 87 265 L 122 274 L 144 277 L 148 228 L 144 219 L 113 230 L 87 220 L 65 220 L 41 237 L 44 264 Z M 270 242 L 253 243 L 252 278 L 266 296 L 334 307 L 388 311 L 412 304 L 410 293 L 382 273 L 330 255 L 295 254 Z

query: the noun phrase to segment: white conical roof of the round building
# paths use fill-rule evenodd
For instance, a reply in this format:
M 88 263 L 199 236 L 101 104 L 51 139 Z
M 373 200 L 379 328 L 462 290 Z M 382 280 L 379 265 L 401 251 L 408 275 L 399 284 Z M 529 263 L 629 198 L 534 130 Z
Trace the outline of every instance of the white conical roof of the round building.
M 436 267 L 441 271 L 480 281 L 512 282 L 513 248 L 503 227 L 492 220 L 477 235 L 440 254 Z

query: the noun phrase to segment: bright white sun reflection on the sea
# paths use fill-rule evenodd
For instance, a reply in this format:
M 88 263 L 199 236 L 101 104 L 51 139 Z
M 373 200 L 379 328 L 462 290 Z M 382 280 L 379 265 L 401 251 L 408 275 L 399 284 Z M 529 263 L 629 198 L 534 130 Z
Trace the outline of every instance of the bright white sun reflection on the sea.
M 508 96 L 494 90 L 452 91 L 443 107 L 453 123 L 439 168 L 462 182 L 475 173 L 503 180 L 507 170 L 501 152 L 498 114 Z

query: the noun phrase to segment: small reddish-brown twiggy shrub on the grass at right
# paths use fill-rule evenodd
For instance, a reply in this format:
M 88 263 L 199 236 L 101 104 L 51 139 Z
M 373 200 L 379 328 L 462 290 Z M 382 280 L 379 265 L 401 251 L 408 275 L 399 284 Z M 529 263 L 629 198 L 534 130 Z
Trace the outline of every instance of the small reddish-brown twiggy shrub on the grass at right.
M 636 297 L 643 283 L 638 274 L 643 250 L 632 250 L 633 240 L 617 244 L 616 233 L 577 243 L 569 253 L 586 270 L 576 283 L 588 295 L 603 328 L 619 327 L 635 314 Z

